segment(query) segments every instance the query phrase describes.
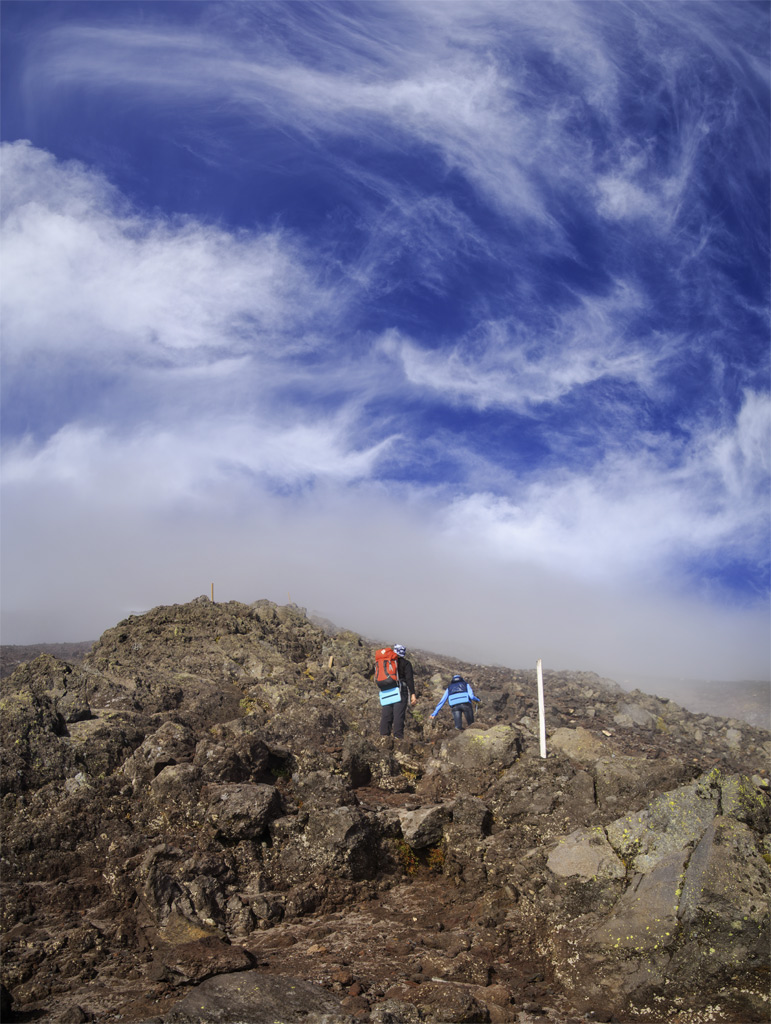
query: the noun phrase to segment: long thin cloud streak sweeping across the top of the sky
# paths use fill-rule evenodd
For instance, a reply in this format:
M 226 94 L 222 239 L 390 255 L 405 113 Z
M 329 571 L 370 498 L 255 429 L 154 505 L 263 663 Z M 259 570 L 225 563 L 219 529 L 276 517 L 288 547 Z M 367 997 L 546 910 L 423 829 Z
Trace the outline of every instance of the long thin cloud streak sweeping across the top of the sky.
M 455 7 L 411 10 L 394 4 L 391 12 L 409 23 L 397 45 L 375 48 L 359 32 L 358 45 L 338 49 L 338 61 L 328 58 L 316 66 L 302 62 L 269 35 L 260 46 L 234 53 L 232 39 L 205 32 L 68 27 L 48 36 L 46 78 L 30 87 L 85 84 L 112 90 L 116 97 L 141 93 L 161 116 L 171 97 L 191 110 L 224 103 L 258 124 L 291 125 L 293 132 L 319 142 L 330 136 L 355 137 L 384 152 L 420 143 L 448 172 L 466 176 L 496 208 L 532 218 L 553 232 L 557 224 L 538 176 L 555 167 L 558 143 L 560 176 L 588 153 L 583 140 L 564 131 L 571 100 L 555 93 L 544 111 L 528 82 L 529 72 L 519 72 L 516 54 L 512 58 L 481 45 L 495 33 L 478 12 L 469 17 L 465 5 Z M 536 32 L 533 12 L 523 9 L 522 23 L 529 30 L 525 36 L 518 36 L 516 15 L 509 13 L 507 19 L 512 23 L 510 41 L 523 63 L 529 46 L 543 48 L 547 58 L 554 51 L 562 58 L 570 55 L 576 75 L 585 69 L 589 35 L 570 36 L 567 23 L 576 27 L 572 12 L 551 18 L 550 26 Z M 462 27 L 469 23 L 475 35 L 464 39 Z M 310 35 L 316 26 L 298 20 L 292 28 Z M 527 40 L 525 47 L 518 39 Z M 313 52 L 316 47 L 317 41 L 308 38 L 298 49 Z M 606 67 L 596 50 L 595 40 L 595 74 L 598 66 Z M 158 58 L 160 53 L 164 59 Z M 594 79 L 589 89 L 596 96 Z M 580 179 L 582 168 L 575 166 L 572 175 Z

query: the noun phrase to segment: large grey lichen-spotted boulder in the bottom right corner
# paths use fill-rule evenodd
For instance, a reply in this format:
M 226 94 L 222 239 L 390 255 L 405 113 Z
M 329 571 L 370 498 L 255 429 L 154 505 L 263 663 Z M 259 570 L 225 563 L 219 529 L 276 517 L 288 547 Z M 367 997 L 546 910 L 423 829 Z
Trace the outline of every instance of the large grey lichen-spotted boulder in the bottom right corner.
M 656 1002 L 687 992 L 700 1013 L 729 979 L 738 1019 L 765 1007 L 771 870 L 757 834 L 718 813 L 723 781 L 711 772 L 607 826 L 609 845 L 635 873 L 609 909 L 584 910 L 554 934 L 558 977 L 581 987 L 580 1008 L 654 1014 Z M 734 781 L 726 785 L 729 806 L 741 808 L 731 800 Z M 567 837 L 549 868 L 583 868 L 584 844 L 581 835 Z

